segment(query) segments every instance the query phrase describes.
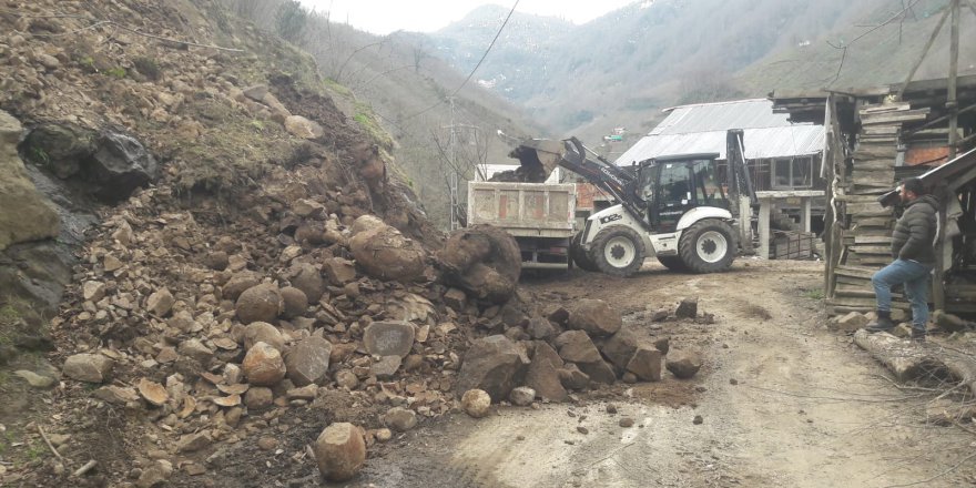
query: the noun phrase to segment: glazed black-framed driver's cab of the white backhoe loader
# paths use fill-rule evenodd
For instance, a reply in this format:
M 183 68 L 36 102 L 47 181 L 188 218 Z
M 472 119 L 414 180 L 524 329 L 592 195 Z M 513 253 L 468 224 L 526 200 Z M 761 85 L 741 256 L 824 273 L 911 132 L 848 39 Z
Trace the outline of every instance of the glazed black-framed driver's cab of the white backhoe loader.
M 681 216 L 700 206 L 729 209 L 718 174 L 718 153 L 679 154 L 642 161 L 638 196 L 654 233 L 674 232 Z

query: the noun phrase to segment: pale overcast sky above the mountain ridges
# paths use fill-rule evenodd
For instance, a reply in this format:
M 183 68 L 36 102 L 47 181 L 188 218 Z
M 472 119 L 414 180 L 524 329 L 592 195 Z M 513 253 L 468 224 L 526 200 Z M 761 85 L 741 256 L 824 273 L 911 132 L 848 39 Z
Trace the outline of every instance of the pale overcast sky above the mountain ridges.
M 515 0 L 299 0 L 316 12 L 331 12 L 334 22 L 375 34 L 395 30 L 436 31 L 476 7 L 496 3 L 511 8 Z M 520 0 L 516 11 L 538 16 L 561 17 L 580 24 L 636 0 Z

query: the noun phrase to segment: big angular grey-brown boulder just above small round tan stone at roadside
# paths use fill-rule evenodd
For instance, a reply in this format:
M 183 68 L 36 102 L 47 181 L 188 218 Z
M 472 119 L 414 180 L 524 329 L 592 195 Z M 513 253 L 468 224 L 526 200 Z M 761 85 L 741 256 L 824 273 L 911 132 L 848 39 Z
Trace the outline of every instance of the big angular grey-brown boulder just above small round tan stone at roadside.
M 508 398 L 522 383 L 529 359 L 525 349 L 502 335 L 477 339 L 465 353 L 456 388 L 482 389 L 496 401 Z

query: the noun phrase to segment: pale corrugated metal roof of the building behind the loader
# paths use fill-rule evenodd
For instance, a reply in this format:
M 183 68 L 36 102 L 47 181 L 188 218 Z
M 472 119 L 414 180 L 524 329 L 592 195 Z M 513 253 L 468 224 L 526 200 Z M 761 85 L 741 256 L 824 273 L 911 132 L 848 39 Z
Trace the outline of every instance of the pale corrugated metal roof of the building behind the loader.
M 725 157 L 725 133 L 742 129 L 745 133 L 745 159 L 810 155 L 823 151 L 823 125 L 791 124 L 789 115 L 773 113 L 766 99 L 682 105 L 648 135 L 617 159 L 618 165 L 650 157 L 719 153 Z

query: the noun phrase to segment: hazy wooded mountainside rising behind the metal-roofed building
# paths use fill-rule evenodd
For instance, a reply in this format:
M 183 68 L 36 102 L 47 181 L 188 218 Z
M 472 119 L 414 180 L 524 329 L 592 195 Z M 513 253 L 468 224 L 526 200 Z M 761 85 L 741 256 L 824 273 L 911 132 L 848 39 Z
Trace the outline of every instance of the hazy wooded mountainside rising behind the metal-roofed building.
M 517 13 L 476 78 L 559 134 L 599 141 L 626 126 L 639 135 L 661 120 L 660 109 L 675 104 L 901 81 L 947 2 L 907 2 L 904 18 L 851 44 L 836 81 L 842 51 L 827 41 L 851 42 L 904 2 L 647 0 L 582 26 Z M 476 9 L 430 34 L 431 51 L 469 72 L 507 13 L 497 6 Z M 964 9 L 962 67 L 970 70 L 973 20 Z M 939 52 L 947 37 L 933 55 L 946 58 Z M 944 71 L 923 67 L 925 74 Z M 634 140 L 606 150 L 620 152 Z

